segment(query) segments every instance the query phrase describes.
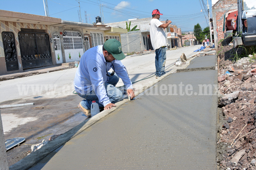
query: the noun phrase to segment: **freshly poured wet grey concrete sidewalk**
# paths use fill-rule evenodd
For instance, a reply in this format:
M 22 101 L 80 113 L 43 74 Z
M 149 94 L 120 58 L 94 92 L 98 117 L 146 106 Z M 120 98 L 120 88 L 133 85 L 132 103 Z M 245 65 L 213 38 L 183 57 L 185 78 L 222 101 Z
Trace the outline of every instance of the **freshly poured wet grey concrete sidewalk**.
M 216 61 L 193 59 L 210 69 L 168 75 L 30 169 L 217 169 Z

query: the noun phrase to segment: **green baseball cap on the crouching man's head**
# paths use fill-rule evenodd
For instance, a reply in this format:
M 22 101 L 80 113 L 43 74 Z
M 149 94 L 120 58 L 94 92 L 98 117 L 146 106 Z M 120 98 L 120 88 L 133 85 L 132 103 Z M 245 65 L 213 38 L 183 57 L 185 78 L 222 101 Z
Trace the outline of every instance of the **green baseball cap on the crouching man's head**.
M 125 54 L 122 52 L 121 43 L 115 39 L 109 39 L 104 43 L 104 48 L 107 52 L 111 53 L 112 56 L 117 59 L 121 60 L 125 58 Z

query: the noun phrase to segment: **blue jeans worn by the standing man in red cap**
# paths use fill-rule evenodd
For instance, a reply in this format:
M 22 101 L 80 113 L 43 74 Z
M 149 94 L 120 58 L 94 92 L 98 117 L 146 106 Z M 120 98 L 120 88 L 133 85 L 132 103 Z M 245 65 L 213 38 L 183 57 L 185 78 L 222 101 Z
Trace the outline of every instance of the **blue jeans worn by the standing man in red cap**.
M 166 48 L 160 47 L 155 50 L 155 75 L 162 76 L 166 74 L 164 66 L 166 65 Z

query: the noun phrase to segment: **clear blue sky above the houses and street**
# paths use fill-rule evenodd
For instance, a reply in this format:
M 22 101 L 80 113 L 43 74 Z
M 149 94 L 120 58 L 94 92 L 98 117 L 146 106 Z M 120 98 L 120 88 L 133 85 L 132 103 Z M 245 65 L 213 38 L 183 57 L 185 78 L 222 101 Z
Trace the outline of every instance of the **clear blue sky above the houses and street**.
M 210 16 L 212 16 L 211 0 L 208 0 L 208 3 Z M 44 15 L 43 0 L 0 0 L 0 4 L 1 10 Z M 181 28 L 181 31 L 193 31 L 197 23 L 202 29 L 208 26 L 208 14 L 205 12 L 207 7 L 204 8 L 203 4 L 207 5 L 207 0 L 80 0 L 81 18 L 84 23 L 86 22 L 85 11 L 87 23 L 95 22 L 96 16 L 101 15 L 104 23 L 112 23 L 133 18 L 148 18 L 151 17 L 152 10 L 157 8 L 163 14 L 160 20 L 171 20 L 172 24 Z M 48 0 L 48 11 L 51 17 L 79 22 L 78 10 L 79 0 Z

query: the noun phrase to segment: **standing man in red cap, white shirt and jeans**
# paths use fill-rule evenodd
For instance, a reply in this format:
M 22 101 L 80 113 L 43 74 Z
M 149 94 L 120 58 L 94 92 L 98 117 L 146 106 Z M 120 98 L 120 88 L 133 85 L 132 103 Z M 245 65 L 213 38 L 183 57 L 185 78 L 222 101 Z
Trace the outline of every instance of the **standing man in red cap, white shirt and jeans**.
M 159 78 L 166 74 L 164 66 L 166 65 L 166 33 L 164 29 L 172 22 L 166 20 L 166 23 L 160 22 L 160 15 L 158 9 L 152 11 L 152 19 L 150 21 L 150 39 L 155 50 L 155 78 Z

